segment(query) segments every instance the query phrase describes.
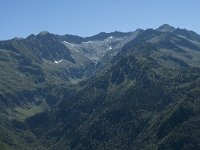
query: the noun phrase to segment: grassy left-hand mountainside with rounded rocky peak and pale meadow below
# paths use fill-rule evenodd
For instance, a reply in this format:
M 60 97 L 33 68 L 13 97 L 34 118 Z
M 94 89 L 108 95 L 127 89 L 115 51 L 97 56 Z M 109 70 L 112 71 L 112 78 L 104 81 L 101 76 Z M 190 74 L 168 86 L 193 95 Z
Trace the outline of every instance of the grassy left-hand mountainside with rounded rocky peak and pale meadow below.
M 23 122 L 48 112 L 59 102 L 60 95 L 53 92 L 55 87 L 69 87 L 71 82 L 70 76 L 58 74 L 61 70 L 54 61 L 74 60 L 49 33 L 1 41 L 0 53 L 0 141 L 11 149 L 34 147 L 32 142 L 37 139 Z

